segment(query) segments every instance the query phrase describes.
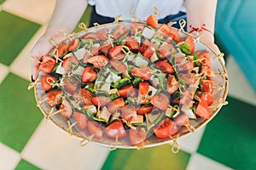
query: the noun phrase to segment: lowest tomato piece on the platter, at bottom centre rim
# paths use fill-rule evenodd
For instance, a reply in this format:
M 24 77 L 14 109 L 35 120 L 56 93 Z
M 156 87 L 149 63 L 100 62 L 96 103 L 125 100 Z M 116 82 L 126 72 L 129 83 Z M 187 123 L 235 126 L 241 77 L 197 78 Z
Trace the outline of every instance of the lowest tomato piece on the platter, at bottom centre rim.
M 131 145 L 142 144 L 146 139 L 146 129 L 143 127 L 136 127 L 136 129 L 130 128 L 129 139 Z

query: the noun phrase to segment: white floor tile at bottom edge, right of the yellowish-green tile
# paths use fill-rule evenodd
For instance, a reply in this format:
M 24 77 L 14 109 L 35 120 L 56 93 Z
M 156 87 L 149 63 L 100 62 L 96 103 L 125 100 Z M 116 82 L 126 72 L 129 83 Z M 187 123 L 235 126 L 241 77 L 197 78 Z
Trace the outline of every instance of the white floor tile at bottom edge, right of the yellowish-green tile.
M 189 159 L 187 170 L 230 170 L 230 167 L 226 167 L 223 164 L 213 161 L 206 156 L 200 154 L 192 154 Z

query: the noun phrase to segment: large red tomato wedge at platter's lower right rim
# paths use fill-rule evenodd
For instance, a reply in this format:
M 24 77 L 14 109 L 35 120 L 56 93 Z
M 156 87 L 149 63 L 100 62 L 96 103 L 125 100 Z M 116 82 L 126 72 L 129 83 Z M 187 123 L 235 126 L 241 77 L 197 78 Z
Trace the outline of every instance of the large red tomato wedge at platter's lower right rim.
M 166 119 L 160 122 L 160 126 L 154 128 L 154 134 L 159 139 L 170 138 L 170 136 L 177 133 L 177 126 L 171 119 L 166 117 Z

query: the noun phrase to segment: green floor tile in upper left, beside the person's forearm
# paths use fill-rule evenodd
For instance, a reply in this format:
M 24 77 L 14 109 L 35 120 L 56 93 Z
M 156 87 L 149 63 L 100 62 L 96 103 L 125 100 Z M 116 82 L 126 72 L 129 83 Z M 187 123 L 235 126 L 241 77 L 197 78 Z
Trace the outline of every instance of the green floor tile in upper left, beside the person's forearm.
M 0 20 L 0 62 L 10 65 L 40 26 L 3 10 Z

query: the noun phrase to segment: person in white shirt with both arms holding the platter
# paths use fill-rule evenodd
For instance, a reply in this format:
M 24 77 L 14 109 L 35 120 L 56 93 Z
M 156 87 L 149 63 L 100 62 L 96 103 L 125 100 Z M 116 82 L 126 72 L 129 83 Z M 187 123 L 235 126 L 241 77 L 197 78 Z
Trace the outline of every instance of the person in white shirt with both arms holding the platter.
M 49 26 L 30 54 L 32 56 L 32 80 L 36 78 L 38 71 L 37 61 L 43 59 L 44 55 L 54 47 L 49 40 L 54 37 L 55 42 L 58 43 L 66 38 L 60 32 L 71 34 L 88 4 L 93 6 L 90 26 L 94 26 L 94 23 L 113 22 L 118 15 L 122 15 L 120 20 L 124 21 L 145 21 L 150 14 L 154 14 L 154 8 L 157 8 L 157 19 L 160 24 L 176 21 L 177 24 L 173 26 L 179 28 L 178 20 L 184 19 L 187 21 L 184 28 L 186 31 L 200 32 L 203 34 L 201 40 L 212 47 L 217 54 L 220 53 L 213 36 L 217 0 L 56 0 Z

